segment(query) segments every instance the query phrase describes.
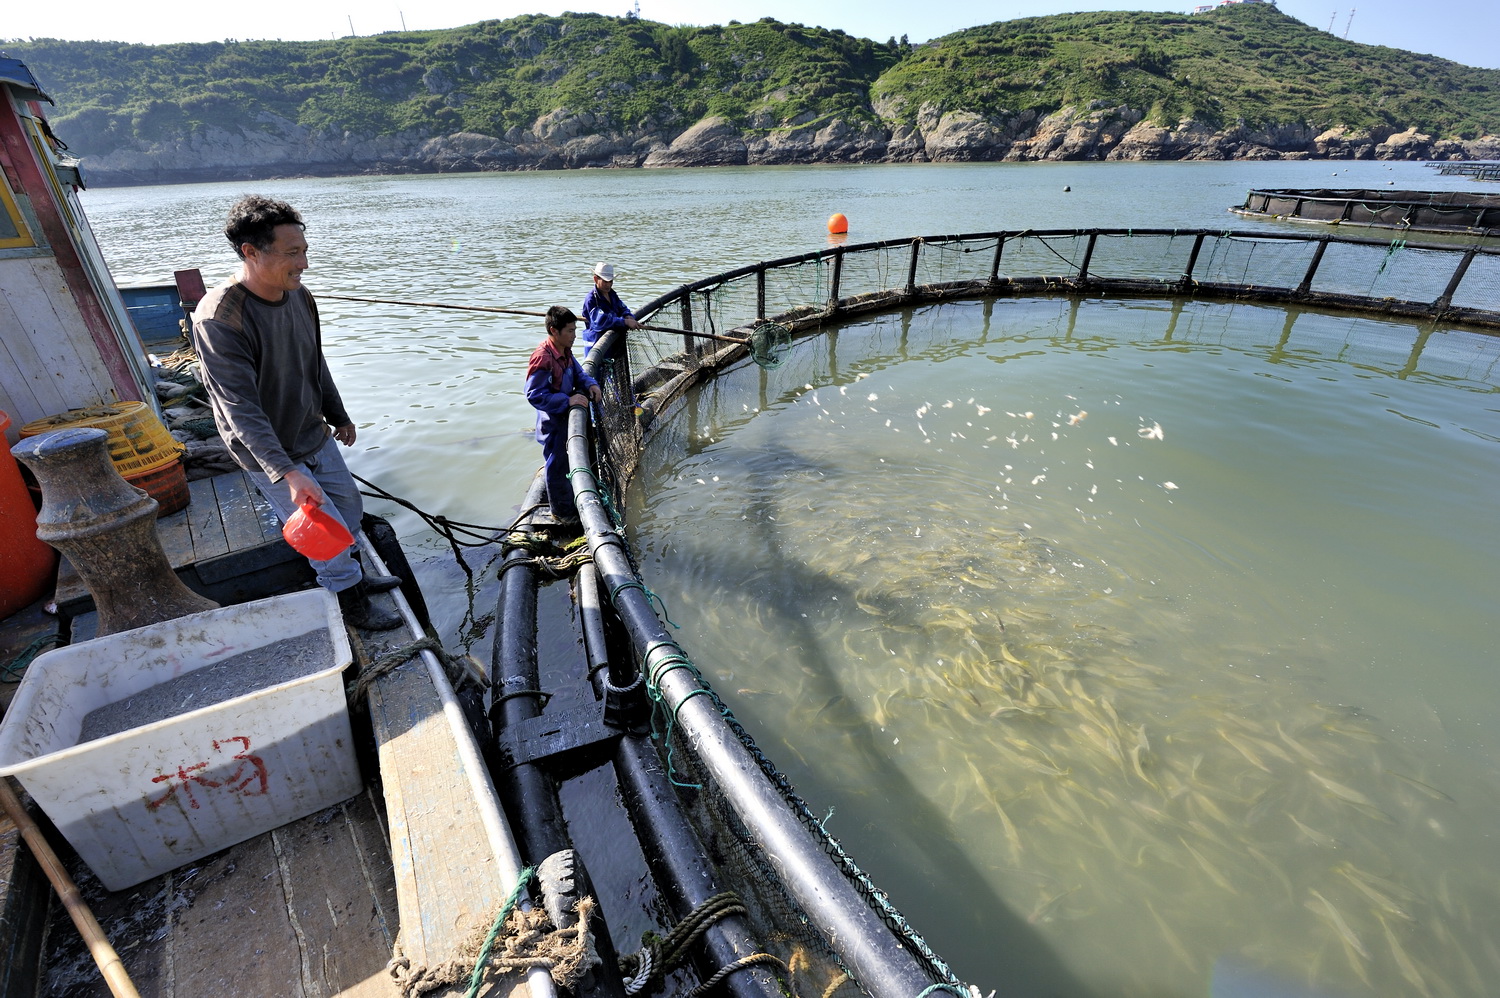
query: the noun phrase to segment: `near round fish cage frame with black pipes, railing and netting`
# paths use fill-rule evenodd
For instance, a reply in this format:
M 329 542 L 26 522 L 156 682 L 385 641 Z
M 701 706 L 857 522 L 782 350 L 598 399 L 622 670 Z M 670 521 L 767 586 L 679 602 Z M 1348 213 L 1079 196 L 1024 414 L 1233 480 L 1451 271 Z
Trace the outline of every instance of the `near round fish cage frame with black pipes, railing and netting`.
M 850 318 L 1028 297 L 1268 303 L 1416 320 L 1426 332 L 1454 324 L 1500 333 L 1500 248 L 1210 230 L 928 236 L 831 246 L 729 270 L 642 306 L 644 329 L 604 333 L 584 362 L 603 401 L 568 414 L 568 482 L 586 543 L 576 578 L 580 644 L 606 728 L 618 704 L 645 692 L 642 705 L 658 741 L 622 738 L 615 759 L 622 785 L 646 786 L 656 773 L 650 789 L 624 794 L 632 812 L 642 812 L 639 827 L 686 821 L 693 831 L 681 839 L 700 846 L 681 852 L 702 848 L 712 857 L 714 882 L 732 885 L 752 923 L 744 945 L 765 947 L 759 953 L 726 942 L 726 969 L 735 966 L 728 962 L 735 953 L 753 951 L 782 972 L 795 971 L 795 993 L 802 995 L 975 993 L 830 836 L 712 689 L 710 669 L 698 668 L 668 630 L 672 621 L 663 623 L 664 608 L 658 615 L 627 540 L 627 483 L 645 447 L 693 446 L 690 428 L 666 416 L 688 390 L 722 374 L 742 372 L 760 396 L 774 399 L 860 353 L 861 344 L 850 341 L 860 330 L 840 330 Z M 538 477 L 528 509 L 544 504 L 540 492 Z M 496 677 L 501 665 L 526 668 L 504 674 L 506 689 L 522 692 L 496 702 L 492 719 L 514 713 L 518 729 L 566 725 L 526 695 L 538 689 L 537 600 L 546 579 L 519 545 L 507 548 L 500 578 Z M 528 768 L 516 764 L 518 773 Z M 549 794 L 534 786 L 522 798 L 536 803 Z M 536 824 L 548 825 L 550 818 L 538 815 Z M 522 834 L 531 824 L 520 822 Z M 678 852 L 663 845 L 646 855 Z M 704 870 L 660 876 L 690 887 L 708 882 Z M 684 894 L 682 903 L 702 899 Z M 724 983 L 736 987 L 736 977 Z

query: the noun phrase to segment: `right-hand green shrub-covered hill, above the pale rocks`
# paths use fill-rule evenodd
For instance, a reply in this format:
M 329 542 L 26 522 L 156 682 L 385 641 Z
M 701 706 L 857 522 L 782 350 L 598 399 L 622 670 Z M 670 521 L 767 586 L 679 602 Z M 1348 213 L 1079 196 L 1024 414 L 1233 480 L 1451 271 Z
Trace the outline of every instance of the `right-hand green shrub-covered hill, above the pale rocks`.
M 1160 125 L 1500 132 L 1500 71 L 1348 42 L 1264 3 L 987 24 L 918 48 L 873 95 L 906 120 L 924 104 L 1004 113 L 1102 101 Z

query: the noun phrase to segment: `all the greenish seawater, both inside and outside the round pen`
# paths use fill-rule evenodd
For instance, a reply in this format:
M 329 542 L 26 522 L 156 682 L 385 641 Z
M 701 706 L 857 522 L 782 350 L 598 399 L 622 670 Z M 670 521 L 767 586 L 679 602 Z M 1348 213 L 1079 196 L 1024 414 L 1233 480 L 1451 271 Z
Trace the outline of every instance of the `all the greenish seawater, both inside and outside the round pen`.
M 308 216 L 315 293 L 540 311 L 578 308 L 596 260 L 639 305 L 816 249 L 834 210 L 850 242 L 1254 228 L 1226 212 L 1251 186 L 1454 182 L 1416 164 L 914 165 L 84 204 L 122 282 L 230 273 L 224 212 L 254 189 Z M 520 381 L 540 320 L 322 315 L 354 470 L 508 522 L 538 461 Z M 634 537 L 736 716 L 984 989 L 1486 993 L 1496 357 L 1420 333 L 1170 302 L 880 317 L 840 333 L 846 366 L 800 354 L 674 417 Z M 372 507 L 444 641 L 484 657 L 494 572 L 470 582 L 412 513 Z

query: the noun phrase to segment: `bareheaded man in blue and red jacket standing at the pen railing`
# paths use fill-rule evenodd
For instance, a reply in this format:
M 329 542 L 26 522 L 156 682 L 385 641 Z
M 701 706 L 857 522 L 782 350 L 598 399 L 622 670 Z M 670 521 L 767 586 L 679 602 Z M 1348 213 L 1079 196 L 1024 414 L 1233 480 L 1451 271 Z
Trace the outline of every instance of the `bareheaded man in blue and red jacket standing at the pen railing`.
M 562 525 L 578 524 L 578 504 L 567 473 L 567 414 L 574 405 L 603 398 L 598 383 L 573 359 L 578 317 L 573 309 L 548 309 L 548 338 L 531 351 L 526 363 L 526 401 L 537 410 L 537 443 L 546 468 L 548 503 Z

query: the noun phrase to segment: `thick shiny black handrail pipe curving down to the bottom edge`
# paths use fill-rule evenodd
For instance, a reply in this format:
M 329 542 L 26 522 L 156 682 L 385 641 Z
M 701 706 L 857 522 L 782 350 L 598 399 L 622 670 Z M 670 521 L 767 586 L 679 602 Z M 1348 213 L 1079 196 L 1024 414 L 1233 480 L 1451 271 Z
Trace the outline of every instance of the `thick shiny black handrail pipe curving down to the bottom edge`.
M 594 353 L 609 348 L 610 342 L 602 338 Z M 615 533 L 600 501 L 590 462 L 586 408 L 568 410 L 567 453 L 573 495 L 594 567 L 630 635 L 646 680 L 657 687 L 664 707 L 674 711 L 675 723 L 693 741 L 754 843 L 776 863 L 788 891 L 840 954 L 850 977 L 874 998 L 912 998 L 939 983 L 844 878 L 746 744 L 724 723 L 712 701 L 698 696 L 705 686 L 690 669 L 678 668 L 686 663 L 686 654 L 657 620 L 626 555 L 626 542 Z

